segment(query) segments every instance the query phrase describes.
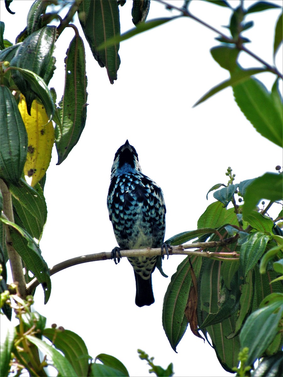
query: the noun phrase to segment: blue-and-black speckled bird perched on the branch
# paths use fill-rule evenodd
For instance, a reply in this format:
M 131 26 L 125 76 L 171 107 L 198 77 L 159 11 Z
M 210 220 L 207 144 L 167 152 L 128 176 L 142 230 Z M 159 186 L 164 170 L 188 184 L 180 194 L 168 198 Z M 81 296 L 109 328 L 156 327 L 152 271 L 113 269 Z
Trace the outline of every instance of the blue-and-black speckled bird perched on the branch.
M 119 250 L 161 247 L 161 255 L 163 248 L 168 255 L 170 245 L 163 244 L 166 213 L 163 192 L 141 172 L 137 151 L 128 140 L 115 153 L 107 207 L 119 245 L 112 250 L 115 264 L 116 252 L 121 255 Z M 128 257 L 128 261 L 134 268 L 135 304 L 138 307 L 151 305 L 154 303 L 151 276 L 157 256 Z

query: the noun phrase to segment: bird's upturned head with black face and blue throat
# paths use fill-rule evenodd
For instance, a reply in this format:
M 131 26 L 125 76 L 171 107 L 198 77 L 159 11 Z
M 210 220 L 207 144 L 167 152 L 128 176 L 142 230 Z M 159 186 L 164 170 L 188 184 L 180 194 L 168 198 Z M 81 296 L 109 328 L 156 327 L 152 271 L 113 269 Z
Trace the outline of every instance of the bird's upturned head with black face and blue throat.
M 113 176 L 126 173 L 141 173 L 138 162 L 138 154 L 135 148 L 129 144 L 128 140 L 116 152 L 111 169 L 111 178 Z

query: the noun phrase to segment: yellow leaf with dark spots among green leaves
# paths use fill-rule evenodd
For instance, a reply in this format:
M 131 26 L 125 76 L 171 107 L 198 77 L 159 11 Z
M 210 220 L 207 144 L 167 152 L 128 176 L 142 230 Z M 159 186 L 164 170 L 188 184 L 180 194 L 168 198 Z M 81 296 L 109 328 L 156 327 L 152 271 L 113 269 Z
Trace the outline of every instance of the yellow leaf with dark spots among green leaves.
M 18 108 L 28 133 L 28 154 L 24 166 L 24 174 L 32 177 L 33 187 L 45 175 L 50 164 L 54 144 L 54 128 L 48 122 L 48 116 L 42 104 L 34 100 L 31 106 L 31 116 L 26 110 L 26 100 L 20 96 Z

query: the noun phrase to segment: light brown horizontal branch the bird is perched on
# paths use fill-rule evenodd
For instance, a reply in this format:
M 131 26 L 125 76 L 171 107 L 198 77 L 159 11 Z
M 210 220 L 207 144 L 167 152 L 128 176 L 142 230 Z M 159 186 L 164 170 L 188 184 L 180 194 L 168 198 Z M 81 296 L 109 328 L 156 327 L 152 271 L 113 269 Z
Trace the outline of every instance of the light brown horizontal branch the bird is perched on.
M 232 244 L 236 242 L 238 239 L 238 234 L 234 237 L 226 238 L 221 241 L 210 241 L 210 242 L 197 242 L 195 244 L 186 244 L 186 245 L 179 245 L 179 246 L 171 246 L 171 250 L 169 250 L 170 255 L 188 255 L 188 256 L 199 256 L 199 257 L 207 257 L 219 260 L 224 259 L 232 259 L 238 260 L 239 254 L 235 251 L 233 252 L 214 252 L 214 251 L 188 251 L 185 249 L 195 249 L 195 248 L 212 248 L 212 247 L 225 247 L 226 245 Z M 133 250 L 120 250 L 121 258 L 123 257 L 137 257 L 137 256 L 146 256 L 152 257 L 155 255 L 160 255 L 160 248 L 152 249 L 150 247 L 146 249 L 133 249 Z M 50 276 L 54 275 L 55 273 L 65 270 L 65 268 L 69 268 L 78 264 L 87 263 L 87 262 L 95 262 L 95 261 L 105 261 L 106 259 L 112 259 L 112 252 L 102 252 L 96 254 L 88 254 L 82 255 L 79 257 L 75 257 L 72 259 L 68 259 L 67 261 L 60 262 L 55 266 L 49 269 Z M 29 282 L 26 286 L 27 294 L 31 294 L 31 292 L 39 285 L 37 278 Z

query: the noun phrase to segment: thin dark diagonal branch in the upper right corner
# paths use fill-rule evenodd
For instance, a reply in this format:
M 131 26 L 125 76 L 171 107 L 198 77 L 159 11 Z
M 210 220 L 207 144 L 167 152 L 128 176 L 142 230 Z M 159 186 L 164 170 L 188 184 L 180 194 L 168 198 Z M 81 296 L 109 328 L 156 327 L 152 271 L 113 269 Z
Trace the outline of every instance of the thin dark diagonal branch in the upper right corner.
M 214 31 L 215 33 L 221 35 L 221 37 L 223 39 L 225 39 L 227 41 L 227 43 L 232 43 L 232 44 L 235 44 L 235 46 L 240 50 L 240 51 L 245 51 L 247 54 L 249 54 L 251 57 L 253 57 L 255 60 L 259 61 L 261 64 L 265 65 L 266 68 L 274 73 L 275 75 L 277 75 L 278 77 L 282 78 L 283 79 L 283 75 L 277 70 L 276 67 L 273 67 L 271 66 L 270 64 L 266 63 L 266 61 L 264 61 L 263 59 L 261 59 L 260 57 L 258 57 L 257 55 L 255 55 L 252 51 L 250 51 L 249 49 L 247 49 L 242 43 L 239 43 L 239 41 L 237 40 L 234 40 L 232 38 L 229 38 L 227 37 L 227 35 L 223 34 L 221 31 L 215 29 L 213 26 L 209 25 L 208 23 L 206 23 L 205 21 L 201 20 L 200 18 L 198 17 L 195 17 L 194 15 L 191 14 L 191 12 L 189 12 L 186 8 L 179 8 L 175 5 L 172 5 L 172 4 L 169 4 L 169 3 L 166 3 L 165 1 L 163 0 L 157 0 L 158 3 L 161 3 L 163 5 L 166 6 L 167 9 L 176 9 L 177 11 L 181 12 L 185 17 L 189 17 L 189 18 L 192 18 L 192 20 L 195 20 L 197 21 L 198 23 L 200 23 L 201 25 L 205 26 L 206 28 Z

